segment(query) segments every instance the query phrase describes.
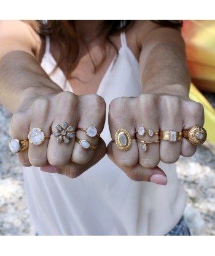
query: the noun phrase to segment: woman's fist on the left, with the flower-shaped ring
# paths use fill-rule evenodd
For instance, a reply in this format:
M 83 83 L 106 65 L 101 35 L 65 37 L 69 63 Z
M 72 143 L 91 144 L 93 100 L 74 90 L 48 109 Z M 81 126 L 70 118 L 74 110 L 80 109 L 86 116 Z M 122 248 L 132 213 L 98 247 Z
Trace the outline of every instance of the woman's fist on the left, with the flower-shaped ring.
M 37 96 L 24 101 L 15 112 L 9 133 L 12 138 L 26 139 L 31 129 L 40 128 L 49 136 L 57 130 L 56 125 L 66 122 L 74 131 L 95 126 L 100 134 L 104 127 L 105 113 L 103 98 L 95 94 L 76 96 L 70 92 L 61 92 Z M 43 171 L 76 178 L 106 154 L 106 145 L 99 136 L 90 138 L 85 131 L 78 130 L 76 137 L 86 139 L 96 149 L 84 149 L 74 138 L 68 144 L 59 143 L 52 134 L 40 145 L 29 143 L 28 150 L 17 153 L 18 160 L 23 166 L 34 165 Z

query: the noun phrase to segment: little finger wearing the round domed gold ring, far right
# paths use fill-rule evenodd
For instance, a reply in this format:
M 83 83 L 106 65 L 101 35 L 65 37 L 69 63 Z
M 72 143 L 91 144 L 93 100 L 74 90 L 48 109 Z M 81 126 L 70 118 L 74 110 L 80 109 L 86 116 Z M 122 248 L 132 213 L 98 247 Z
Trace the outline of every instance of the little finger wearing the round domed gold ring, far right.
M 192 126 L 203 126 L 204 124 L 204 109 L 198 102 L 185 102 L 183 105 L 183 112 L 186 113 L 184 116 L 183 129 L 187 130 Z M 182 138 L 181 155 L 184 157 L 191 157 L 195 154 L 197 146 L 194 146 L 186 138 Z

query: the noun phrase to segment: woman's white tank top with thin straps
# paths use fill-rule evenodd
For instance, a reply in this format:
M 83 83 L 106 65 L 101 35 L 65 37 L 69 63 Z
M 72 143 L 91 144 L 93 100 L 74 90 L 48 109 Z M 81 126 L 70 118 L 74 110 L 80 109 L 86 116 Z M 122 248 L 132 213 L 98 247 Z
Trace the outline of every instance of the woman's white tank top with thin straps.
M 127 46 L 125 33 L 120 37 L 119 55 L 111 62 L 97 92 L 106 101 L 107 111 L 112 99 L 141 93 L 138 60 Z M 48 74 L 56 65 L 49 48 L 47 37 L 41 65 Z M 72 91 L 60 68 L 50 78 L 63 90 Z M 111 141 L 108 112 L 101 137 L 107 144 Z M 184 212 L 186 193 L 179 184 L 175 165 L 160 163 L 160 167 L 168 178 L 166 186 L 130 180 L 107 156 L 75 179 L 24 167 L 26 195 L 36 231 L 41 235 L 168 233 Z

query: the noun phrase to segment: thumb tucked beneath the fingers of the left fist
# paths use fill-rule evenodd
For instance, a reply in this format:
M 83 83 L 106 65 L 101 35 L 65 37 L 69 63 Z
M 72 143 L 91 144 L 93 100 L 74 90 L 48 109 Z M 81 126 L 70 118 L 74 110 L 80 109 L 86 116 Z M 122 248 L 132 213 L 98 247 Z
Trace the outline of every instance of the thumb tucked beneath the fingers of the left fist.
M 88 168 L 95 165 L 98 161 L 100 161 L 104 155 L 106 154 L 106 144 L 103 139 L 100 138 L 100 142 L 96 148 L 95 154 L 92 159 L 83 165 L 79 163 L 69 162 L 65 167 L 42 167 L 42 171 L 58 173 L 61 175 L 68 176 L 69 178 L 77 178 L 79 175 L 84 173 L 84 171 L 88 170 Z

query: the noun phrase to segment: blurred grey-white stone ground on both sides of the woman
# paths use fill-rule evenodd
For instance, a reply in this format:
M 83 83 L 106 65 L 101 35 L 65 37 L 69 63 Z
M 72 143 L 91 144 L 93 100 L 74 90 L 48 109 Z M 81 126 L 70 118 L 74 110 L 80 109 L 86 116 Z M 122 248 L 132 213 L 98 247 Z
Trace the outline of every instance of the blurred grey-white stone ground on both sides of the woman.
M 206 94 L 215 107 L 215 94 Z M 0 235 L 33 235 L 22 167 L 9 151 L 11 114 L 0 105 Z M 205 142 L 190 158 L 181 157 L 178 175 L 188 194 L 186 221 L 193 235 L 215 235 L 215 144 Z

